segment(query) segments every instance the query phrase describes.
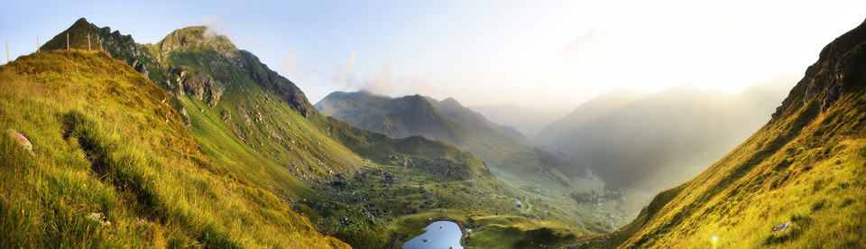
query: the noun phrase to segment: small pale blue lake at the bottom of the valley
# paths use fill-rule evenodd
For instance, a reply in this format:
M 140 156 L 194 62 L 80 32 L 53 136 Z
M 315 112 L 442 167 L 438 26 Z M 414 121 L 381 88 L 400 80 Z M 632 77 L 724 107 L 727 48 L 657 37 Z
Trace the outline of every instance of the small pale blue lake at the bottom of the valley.
M 437 221 L 424 227 L 424 231 L 424 234 L 403 244 L 403 249 L 463 249 L 460 245 L 463 232 L 454 222 Z

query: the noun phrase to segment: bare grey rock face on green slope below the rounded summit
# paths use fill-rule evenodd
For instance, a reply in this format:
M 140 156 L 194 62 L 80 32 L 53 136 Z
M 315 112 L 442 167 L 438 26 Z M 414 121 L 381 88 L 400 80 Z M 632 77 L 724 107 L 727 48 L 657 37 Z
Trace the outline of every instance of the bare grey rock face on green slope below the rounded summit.
M 226 91 L 223 84 L 216 79 L 189 69 L 171 69 L 171 75 L 180 94 L 195 97 L 209 106 L 217 106 L 219 97 Z

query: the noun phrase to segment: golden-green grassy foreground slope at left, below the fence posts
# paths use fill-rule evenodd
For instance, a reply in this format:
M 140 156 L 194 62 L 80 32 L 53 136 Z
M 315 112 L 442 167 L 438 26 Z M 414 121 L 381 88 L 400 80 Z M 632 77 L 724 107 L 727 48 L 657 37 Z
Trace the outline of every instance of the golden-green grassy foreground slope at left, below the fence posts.
M 347 247 L 214 164 L 165 92 L 105 52 L 24 56 L 0 80 L 0 127 L 34 152 L 0 139 L 3 247 Z

